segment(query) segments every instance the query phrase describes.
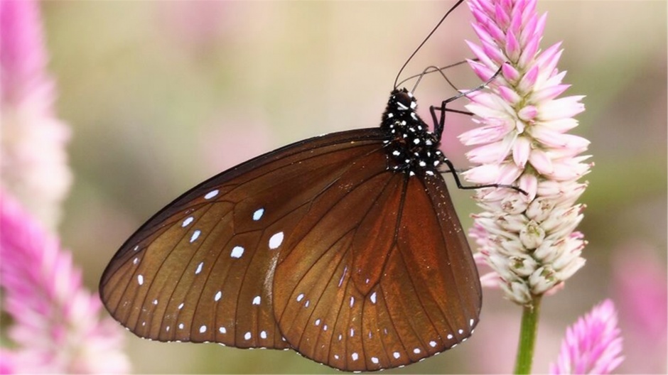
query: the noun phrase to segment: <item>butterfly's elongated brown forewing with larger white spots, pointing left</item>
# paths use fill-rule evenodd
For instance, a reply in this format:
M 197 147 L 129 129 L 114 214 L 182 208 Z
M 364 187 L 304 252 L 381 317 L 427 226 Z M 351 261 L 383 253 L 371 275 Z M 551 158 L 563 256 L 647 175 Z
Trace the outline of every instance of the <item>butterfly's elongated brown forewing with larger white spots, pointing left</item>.
M 114 256 L 102 300 L 140 337 L 286 347 L 271 308 L 281 243 L 311 200 L 383 138 L 379 129 L 313 138 L 186 192 Z

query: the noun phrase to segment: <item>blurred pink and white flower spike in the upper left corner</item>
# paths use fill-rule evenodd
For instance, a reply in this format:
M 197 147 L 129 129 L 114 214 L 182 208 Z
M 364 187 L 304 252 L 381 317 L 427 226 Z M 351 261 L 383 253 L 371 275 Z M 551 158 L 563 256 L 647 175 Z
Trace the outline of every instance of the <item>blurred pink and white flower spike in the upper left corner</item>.
M 72 180 L 70 130 L 53 114 L 36 1 L 0 1 L 0 45 L 1 187 L 53 230 Z

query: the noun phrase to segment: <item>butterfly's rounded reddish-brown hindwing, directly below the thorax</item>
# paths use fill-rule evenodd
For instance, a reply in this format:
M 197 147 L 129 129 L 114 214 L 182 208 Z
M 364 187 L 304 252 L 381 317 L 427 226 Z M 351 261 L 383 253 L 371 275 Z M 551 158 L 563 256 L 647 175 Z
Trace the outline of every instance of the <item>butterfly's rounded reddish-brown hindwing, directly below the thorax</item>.
M 480 284 L 441 175 L 351 169 L 339 183 L 344 192 L 313 201 L 303 222 L 317 224 L 294 229 L 276 268 L 286 339 L 348 371 L 410 364 L 466 339 Z

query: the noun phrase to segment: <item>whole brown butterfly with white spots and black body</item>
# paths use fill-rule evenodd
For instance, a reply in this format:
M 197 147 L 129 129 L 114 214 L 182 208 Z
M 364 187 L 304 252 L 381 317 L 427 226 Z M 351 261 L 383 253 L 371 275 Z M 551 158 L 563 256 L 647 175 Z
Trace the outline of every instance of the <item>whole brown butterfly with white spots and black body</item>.
M 454 171 L 439 150 L 447 102 L 430 108 L 430 131 L 395 85 L 379 127 L 200 183 L 125 241 L 102 302 L 139 337 L 293 349 L 345 371 L 455 347 L 478 325 L 482 292 L 441 174 Z

